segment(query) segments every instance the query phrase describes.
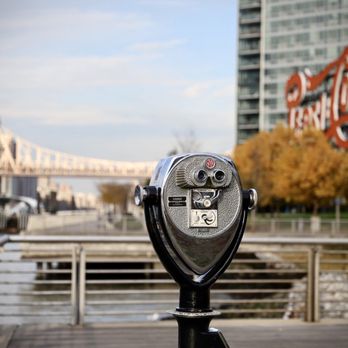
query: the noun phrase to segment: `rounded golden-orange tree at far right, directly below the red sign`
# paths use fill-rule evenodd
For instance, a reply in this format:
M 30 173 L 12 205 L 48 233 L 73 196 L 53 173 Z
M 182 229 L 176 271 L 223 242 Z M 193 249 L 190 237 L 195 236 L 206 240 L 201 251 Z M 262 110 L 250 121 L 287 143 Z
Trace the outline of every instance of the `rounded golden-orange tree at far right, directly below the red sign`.
M 342 154 L 325 135 L 306 129 L 275 159 L 274 193 L 286 202 L 309 206 L 316 214 L 320 206 L 330 203 L 342 190 L 341 165 Z

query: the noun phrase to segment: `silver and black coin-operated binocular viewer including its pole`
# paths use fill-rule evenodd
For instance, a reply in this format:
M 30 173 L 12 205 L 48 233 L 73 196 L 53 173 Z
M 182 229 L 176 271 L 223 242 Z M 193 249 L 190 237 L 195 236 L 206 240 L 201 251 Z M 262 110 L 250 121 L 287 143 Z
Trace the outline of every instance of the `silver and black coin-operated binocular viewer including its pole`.
M 180 348 L 228 347 L 209 329 L 219 313 L 210 307 L 210 287 L 232 261 L 241 242 L 254 189 L 244 191 L 234 163 L 214 154 L 186 154 L 161 160 L 149 186 L 137 186 L 153 246 L 180 286 Z

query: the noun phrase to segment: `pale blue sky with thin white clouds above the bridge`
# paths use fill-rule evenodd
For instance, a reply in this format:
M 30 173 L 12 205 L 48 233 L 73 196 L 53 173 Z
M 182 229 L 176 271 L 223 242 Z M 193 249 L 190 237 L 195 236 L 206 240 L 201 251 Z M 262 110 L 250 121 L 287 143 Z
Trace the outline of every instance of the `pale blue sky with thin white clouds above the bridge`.
M 233 147 L 234 0 L 0 0 L 2 125 L 43 147 L 165 157 Z

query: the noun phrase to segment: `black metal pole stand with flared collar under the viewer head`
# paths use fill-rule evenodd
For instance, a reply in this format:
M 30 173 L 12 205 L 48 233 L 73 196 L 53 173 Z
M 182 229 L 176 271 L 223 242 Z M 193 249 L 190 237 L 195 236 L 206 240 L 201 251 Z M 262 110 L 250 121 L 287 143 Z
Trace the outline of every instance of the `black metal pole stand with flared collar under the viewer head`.
M 210 290 L 180 288 L 180 304 L 173 314 L 178 322 L 179 348 L 229 348 L 222 333 L 209 328 L 220 315 L 210 308 Z

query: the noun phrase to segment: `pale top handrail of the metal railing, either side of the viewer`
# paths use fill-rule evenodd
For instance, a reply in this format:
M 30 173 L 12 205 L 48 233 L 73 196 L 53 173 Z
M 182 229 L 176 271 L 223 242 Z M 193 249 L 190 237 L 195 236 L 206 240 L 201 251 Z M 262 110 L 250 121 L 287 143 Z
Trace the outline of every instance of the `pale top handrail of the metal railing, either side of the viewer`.
M 14 236 L 0 235 L 0 246 L 17 243 L 149 243 L 148 236 Z M 348 238 L 244 237 L 243 244 L 348 245 Z

